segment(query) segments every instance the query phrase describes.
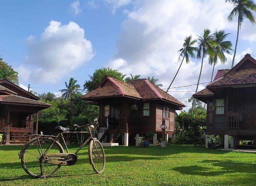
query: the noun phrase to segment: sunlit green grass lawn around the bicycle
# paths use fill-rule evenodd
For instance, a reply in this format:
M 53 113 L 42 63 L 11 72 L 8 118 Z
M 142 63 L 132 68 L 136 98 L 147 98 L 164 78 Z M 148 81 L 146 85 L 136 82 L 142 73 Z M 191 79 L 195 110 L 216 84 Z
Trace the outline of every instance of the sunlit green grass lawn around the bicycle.
M 22 146 L 0 146 L 2 185 L 256 185 L 256 154 L 210 150 L 189 145 L 149 148 L 105 147 L 106 168 L 95 174 L 88 147 L 73 166 L 62 166 L 52 177 L 34 179 L 21 167 Z M 70 145 L 70 152 L 77 146 Z

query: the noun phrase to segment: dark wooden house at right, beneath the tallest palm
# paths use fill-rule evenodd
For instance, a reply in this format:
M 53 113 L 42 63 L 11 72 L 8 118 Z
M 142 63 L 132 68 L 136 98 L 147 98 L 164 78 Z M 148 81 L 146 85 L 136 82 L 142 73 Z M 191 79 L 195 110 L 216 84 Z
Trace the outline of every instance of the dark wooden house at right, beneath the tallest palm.
M 218 70 L 205 89 L 193 95 L 207 103 L 206 134 L 225 136 L 224 147 L 256 146 L 256 60 L 250 54 L 231 70 Z M 229 136 L 230 144 L 229 144 Z

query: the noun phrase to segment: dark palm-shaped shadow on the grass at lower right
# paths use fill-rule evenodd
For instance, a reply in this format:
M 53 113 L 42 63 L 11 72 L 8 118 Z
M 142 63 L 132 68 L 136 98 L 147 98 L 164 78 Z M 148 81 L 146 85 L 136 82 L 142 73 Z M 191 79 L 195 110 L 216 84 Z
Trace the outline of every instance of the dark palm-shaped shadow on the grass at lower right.
M 216 171 L 216 169 L 212 170 L 213 168 L 211 167 L 194 165 L 175 167 L 172 170 L 187 175 L 218 176 L 226 173 L 255 173 L 256 168 L 256 164 L 234 161 L 204 160 L 201 163 L 209 163 L 210 165 L 221 168 Z

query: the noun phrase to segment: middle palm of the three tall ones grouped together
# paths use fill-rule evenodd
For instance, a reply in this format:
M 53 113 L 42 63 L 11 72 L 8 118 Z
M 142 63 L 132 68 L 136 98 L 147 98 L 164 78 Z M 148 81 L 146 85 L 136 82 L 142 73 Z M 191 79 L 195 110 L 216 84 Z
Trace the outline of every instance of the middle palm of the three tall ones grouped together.
M 202 58 L 202 63 L 201 63 L 201 70 L 199 73 L 198 81 L 197 81 L 197 88 L 195 90 L 195 93 L 197 93 L 201 73 L 202 73 L 202 68 L 203 68 L 203 59 L 207 54 L 211 54 L 213 51 L 213 34 L 210 34 L 211 31 L 208 28 L 205 28 L 203 32 L 203 37 L 198 36 L 198 51 L 197 51 L 197 58 L 200 59 Z M 195 99 L 192 104 L 192 114 L 194 110 L 194 105 L 195 105 Z

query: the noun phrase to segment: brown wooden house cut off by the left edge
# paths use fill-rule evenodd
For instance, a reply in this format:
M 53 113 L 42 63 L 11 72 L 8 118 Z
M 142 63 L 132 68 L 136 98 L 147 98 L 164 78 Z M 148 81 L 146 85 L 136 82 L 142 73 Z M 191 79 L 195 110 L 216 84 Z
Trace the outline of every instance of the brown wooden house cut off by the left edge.
M 24 143 L 29 140 L 27 133 L 37 133 L 33 114 L 49 108 L 48 103 L 38 101 L 34 94 L 22 89 L 8 80 L 0 80 L 0 132 L 6 145 Z M 34 131 L 35 128 L 35 131 Z

